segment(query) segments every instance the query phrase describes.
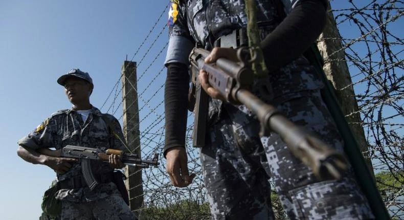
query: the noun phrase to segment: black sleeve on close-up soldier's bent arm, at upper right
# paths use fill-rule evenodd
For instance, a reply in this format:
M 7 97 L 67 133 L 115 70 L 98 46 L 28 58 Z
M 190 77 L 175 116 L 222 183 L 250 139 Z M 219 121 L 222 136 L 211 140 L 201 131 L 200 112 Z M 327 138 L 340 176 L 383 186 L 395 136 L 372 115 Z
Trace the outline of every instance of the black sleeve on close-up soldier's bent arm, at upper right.
M 323 30 L 325 18 L 326 7 L 322 1 L 301 0 L 261 41 L 268 70 L 278 70 L 305 52 Z

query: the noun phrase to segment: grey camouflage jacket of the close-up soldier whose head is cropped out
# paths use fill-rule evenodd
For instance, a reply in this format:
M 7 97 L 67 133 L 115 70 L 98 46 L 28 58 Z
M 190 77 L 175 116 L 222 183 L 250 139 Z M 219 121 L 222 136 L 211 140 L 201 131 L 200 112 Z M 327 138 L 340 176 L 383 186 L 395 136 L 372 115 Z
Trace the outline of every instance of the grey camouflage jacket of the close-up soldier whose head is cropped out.
M 278 3 L 276 3 L 278 1 Z M 257 23 L 261 40 L 281 22 L 279 1 L 288 14 L 299 0 L 257 0 Z M 169 46 L 165 64 L 179 62 L 189 64 L 188 56 L 193 47 L 212 49 L 212 43 L 233 30 L 245 28 L 247 17 L 243 0 L 189 0 L 173 1 L 169 12 Z M 303 55 L 268 77 L 254 83 L 266 84 L 267 91 L 254 91 L 258 96 L 270 96 L 275 102 L 294 98 L 299 92 L 323 87 L 320 77 Z M 252 86 L 257 87 L 257 86 Z M 217 122 L 222 102 L 212 99 L 209 119 Z M 226 104 L 225 104 L 226 106 Z

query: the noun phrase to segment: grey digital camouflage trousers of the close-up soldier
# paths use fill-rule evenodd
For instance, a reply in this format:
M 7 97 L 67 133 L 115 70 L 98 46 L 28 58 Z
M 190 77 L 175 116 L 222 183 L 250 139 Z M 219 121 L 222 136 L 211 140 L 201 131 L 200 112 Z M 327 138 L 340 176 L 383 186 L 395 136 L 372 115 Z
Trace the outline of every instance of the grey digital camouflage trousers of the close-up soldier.
M 343 150 L 318 90 L 300 92 L 275 105 L 291 121 Z M 213 219 L 274 219 L 270 177 L 290 219 L 374 218 L 352 172 L 340 181 L 320 181 L 277 134 L 260 138 L 259 129 L 245 106 L 230 104 L 210 128 L 200 157 Z

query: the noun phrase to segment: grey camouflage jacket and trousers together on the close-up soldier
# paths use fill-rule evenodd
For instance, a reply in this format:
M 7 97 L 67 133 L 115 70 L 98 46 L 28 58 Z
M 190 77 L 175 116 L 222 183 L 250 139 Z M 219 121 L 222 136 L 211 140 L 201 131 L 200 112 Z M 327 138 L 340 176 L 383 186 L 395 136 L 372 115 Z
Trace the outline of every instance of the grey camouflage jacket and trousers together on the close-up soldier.
M 257 1 L 261 38 L 279 24 L 274 1 Z M 289 6 L 286 12 L 292 10 L 290 2 L 296 1 L 284 4 Z M 189 0 L 177 4 L 171 8 L 178 15 L 174 23 L 169 23 L 166 61 L 181 62 L 184 57 L 179 56 L 189 55 L 188 51 L 170 54 L 170 47 L 177 49 L 178 39 L 209 50 L 218 37 L 246 26 L 243 1 Z M 314 68 L 300 56 L 267 77 L 256 79 L 252 91 L 291 121 L 343 151 L 343 140 L 321 99 L 322 87 Z M 244 105 L 211 100 L 209 119 L 207 145 L 200 149 L 200 159 L 212 219 L 274 219 L 270 178 L 290 219 L 374 218 L 352 171 L 340 181 L 320 181 L 277 134 L 259 137 L 259 122 Z

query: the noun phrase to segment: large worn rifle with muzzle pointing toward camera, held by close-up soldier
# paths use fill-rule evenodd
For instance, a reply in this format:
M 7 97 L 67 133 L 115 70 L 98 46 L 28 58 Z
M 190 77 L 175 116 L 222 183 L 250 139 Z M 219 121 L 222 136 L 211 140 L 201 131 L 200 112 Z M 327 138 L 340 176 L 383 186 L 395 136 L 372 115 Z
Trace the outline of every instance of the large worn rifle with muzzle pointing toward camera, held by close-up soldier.
M 346 159 L 341 152 L 329 147 L 317 137 L 308 133 L 303 127 L 297 126 L 276 107 L 267 104 L 249 91 L 254 80 L 254 74 L 250 63 L 254 57 L 250 57 L 250 49 L 242 47 L 237 50 L 240 62 L 233 62 L 226 58 L 219 58 L 215 63 L 205 63 L 209 51 L 194 48 L 189 56 L 193 78 L 197 78 L 199 70 L 208 73 L 209 84 L 218 90 L 232 104 L 243 104 L 248 107 L 258 118 L 261 124 L 260 136 L 268 136 L 270 131 L 277 133 L 286 143 L 295 157 L 309 166 L 317 177 L 324 179 L 332 177 L 340 179 L 342 172 L 348 168 Z M 197 80 L 193 80 L 198 83 Z M 200 85 L 196 84 L 196 88 Z M 196 98 L 207 94 L 203 89 L 196 90 Z M 205 93 L 205 94 L 204 94 Z M 203 103 L 205 102 L 205 103 Z M 201 107 L 205 109 L 201 109 Z M 196 99 L 194 129 L 206 130 L 206 115 L 199 118 L 200 113 L 207 114 L 208 101 Z M 205 121 L 203 121 L 205 119 Z M 194 131 L 193 145 L 205 144 L 205 137 L 195 136 L 199 131 Z M 199 140 L 198 140 L 199 139 Z M 198 145 L 199 144 L 199 145 Z

